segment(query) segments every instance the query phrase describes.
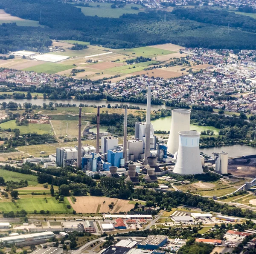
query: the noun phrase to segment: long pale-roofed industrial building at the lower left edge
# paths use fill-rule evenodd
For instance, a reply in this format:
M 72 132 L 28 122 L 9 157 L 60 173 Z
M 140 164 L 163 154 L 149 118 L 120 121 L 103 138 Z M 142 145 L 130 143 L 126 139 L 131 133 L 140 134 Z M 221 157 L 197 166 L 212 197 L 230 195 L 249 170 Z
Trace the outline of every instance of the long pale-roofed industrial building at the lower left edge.
M 2 237 L 2 238 L 0 238 L 0 242 L 7 243 L 7 244 L 9 244 L 9 243 L 24 243 L 25 242 L 26 245 L 30 245 L 34 241 L 47 240 L 54 236 L 55 236 L 55 234 L 51 231 L 35 233 L 35 234 L 20 234 L 20 235 L 13 236 L 13 237 Z

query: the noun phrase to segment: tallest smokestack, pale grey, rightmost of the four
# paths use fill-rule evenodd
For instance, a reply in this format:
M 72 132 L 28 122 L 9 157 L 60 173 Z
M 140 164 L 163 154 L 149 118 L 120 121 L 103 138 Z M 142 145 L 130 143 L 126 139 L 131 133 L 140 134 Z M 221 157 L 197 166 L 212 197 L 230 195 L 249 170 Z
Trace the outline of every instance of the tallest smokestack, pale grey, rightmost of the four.
M 150 156 L 150 110 L 151 110 L 151 86 L 148 86 L 144 165 L 148 164 L 147 157 Z

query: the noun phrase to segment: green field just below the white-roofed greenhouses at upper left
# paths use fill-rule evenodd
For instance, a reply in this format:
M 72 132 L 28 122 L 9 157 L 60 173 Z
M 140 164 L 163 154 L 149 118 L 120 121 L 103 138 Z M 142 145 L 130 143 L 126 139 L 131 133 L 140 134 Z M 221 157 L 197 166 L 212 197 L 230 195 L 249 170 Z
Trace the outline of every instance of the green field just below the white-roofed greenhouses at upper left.
M 65 64 L 59 64 L 59 63 L 43 63 L 37 66 L 25 68 L 23 69 L 23 71 L 35 71 L 38 73 L 44 72 L 44 73 L 53 74 L 59 71 L 65 71 L 72 68 L 74 68 L 74 66 L 72 65 L 65 65 Z

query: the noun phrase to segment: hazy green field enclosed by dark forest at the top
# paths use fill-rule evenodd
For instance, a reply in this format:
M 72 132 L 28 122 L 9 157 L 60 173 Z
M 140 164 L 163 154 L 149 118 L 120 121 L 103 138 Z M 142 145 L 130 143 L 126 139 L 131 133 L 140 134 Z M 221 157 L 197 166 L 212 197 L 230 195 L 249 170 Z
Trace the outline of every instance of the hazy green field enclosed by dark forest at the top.
M 123 8 L 115 8 L 112 9 L 111 5 L 112 3 L 89 3 L 91 6 L 97 6 L 100 7 L 92 8 L 92 7 L 82 7 L 82 6 L 76 6 L 77 8 L 81 8 L 81 11 L 84 15 L 87 16 L 98 16 L 98 17 L 113 17 L 113 18 L 119 18 L 122 16 L 122 14 L 137 14 L 143 10 L 141 10 L 142 6 L 138 4 L 127 4 Z M 136 6 L 139 8 L 139 10 L 132 10 L 131 6 Z

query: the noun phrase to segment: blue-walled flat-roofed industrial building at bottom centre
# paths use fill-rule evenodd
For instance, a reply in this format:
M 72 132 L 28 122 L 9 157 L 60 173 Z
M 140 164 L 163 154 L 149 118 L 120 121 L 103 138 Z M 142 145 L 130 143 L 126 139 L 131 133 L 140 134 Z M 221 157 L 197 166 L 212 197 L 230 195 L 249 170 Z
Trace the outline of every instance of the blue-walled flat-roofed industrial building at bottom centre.
M 137 246 L 139 249 L 154 250 L 163 246 L 168 240 L 166 235 L 148 235 Z

